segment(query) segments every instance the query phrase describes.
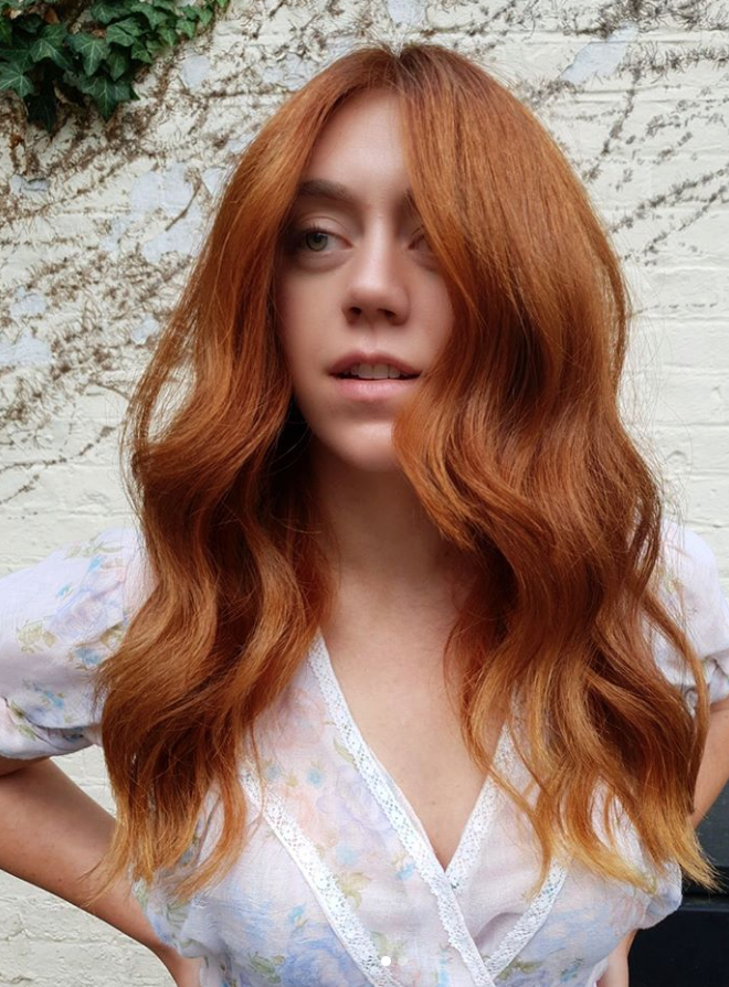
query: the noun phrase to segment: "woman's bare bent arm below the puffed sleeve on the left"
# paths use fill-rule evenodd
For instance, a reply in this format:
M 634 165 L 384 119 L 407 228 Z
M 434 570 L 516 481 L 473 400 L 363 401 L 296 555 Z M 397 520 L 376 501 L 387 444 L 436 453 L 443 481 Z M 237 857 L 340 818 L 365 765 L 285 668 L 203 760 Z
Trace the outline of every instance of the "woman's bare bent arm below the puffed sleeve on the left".
M 109 843 L 115 820 L 47 757 L 0 757 L 0 870 L 29 881 L 96 915 L 150 949 L 177 983 L 198 983 L 199 961 L 183 959 L 149 925 L 126 882 L 119 882 L 92 909 L 84 901 L 92 868 Z

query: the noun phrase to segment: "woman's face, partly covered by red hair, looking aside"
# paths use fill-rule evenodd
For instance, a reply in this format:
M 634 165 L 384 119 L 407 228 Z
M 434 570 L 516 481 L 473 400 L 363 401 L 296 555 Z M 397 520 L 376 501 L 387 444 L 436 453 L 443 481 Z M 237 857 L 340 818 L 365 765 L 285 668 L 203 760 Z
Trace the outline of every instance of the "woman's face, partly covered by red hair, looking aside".
M 315 455 L 397 469 L 392 422 L 420 379 L 362 383 L 332 373 L 342 359 L 346 369 L 401 362 L 423 373 L 452 329 L 445 284 L 406 194 L 397 97 L 360 94 L 340 107 L 306 181 L 318 184 L 296 200 L 277 272 L 277 331 L 294 394 Z

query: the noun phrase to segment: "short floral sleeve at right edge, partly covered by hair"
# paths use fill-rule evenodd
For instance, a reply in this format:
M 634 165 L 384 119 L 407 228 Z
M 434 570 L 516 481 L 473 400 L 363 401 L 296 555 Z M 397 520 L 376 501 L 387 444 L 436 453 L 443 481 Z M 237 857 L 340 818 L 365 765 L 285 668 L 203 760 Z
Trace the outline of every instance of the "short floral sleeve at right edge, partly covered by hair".
M 673 520 L 664 522 L 662 585 L 704 668 L 709 702 L 729 696 L 729 599 L 719 579 L 717 558 L 704 538 Z M 663 672 L 696 709 L 690 670 L 659 637 L 656 660 Z

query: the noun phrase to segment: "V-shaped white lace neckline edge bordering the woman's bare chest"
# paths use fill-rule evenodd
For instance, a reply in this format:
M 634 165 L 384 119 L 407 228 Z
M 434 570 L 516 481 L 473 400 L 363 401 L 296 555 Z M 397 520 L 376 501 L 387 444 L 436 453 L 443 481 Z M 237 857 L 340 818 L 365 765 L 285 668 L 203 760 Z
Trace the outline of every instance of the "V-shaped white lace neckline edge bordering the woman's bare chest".
M 313 662 L 311 658 L 314 658 Z M 410 825 L 415 830 L 415 832 L 418 832 L 419 839 L 424 845 L 427 856 L 432 859 L 432 863 L 437 868 L 440 873 L 445 877 L 451 888 L 453 890 L 456 890 L 463 884 L 473 864 L 475 863 L 478 856 L 478 850 L 494 817 L 498 790 L 493 776 L 489 774 L 484 779 L 484 783 L 471 809 L 471 813 L 468 814 L 463 829 L 461 830 L 461 836 L 458 837 L 458 842 L 451 857 L 451 860 L 448 861 L 447 866 L 444 867 L 443 863 L 439 860 L 431 838 L 429 837 L 418 813 L 412 807 L 410 799 L 405 796 L 400 785 L 392 777 L 392 774 L 382 764 L 379 757 L 377 757 L 371 746 L 362 735 L 362 732 L 359 729 L 357 721 L 355 720 L 350 705 L 339 683 L 339 679 L 337 678 L 337 673 L 331 661 L 331 656 L 329 655 L 329 650 L 327 648 L 320 628 L 317 628 L 315 646 L 311 650 L 309 660 L 313 664 L 315 672 L 317 672 L 318 676 L 324 677 L 324 681 L 327 686 L 327 689 L 325 691 L 325 701 L 327 702 L 330 712 L 335 717 L 335 721 L 338 721 L 337 725 L 339 725 L 340 728 L 342 725 L 346 725 L 347 732 L 351 736 L 355 745 L 358 749 L 360 757 L 364 762 L 366 771 L 360 771 L 360 773 L 363 775 L 368 787 L 370 787 L 370 789 L 372 790 L 372 773 L 374 772 L 376 775 L 379 774 L 382 782 L 394 793 L 395 797 L 400 800 L 403 809 L 405 810 Z M 498 741 L 494 751 L 494 763 L 497 770 L 504 771 L 506 763 L 509 761 L 513 749 L 509 742 L 507 724 L 505 722 L 500 729 Z M 378 802 L 380 802 L 377 792 L 373 790 L 372 794 L 378 799 Z

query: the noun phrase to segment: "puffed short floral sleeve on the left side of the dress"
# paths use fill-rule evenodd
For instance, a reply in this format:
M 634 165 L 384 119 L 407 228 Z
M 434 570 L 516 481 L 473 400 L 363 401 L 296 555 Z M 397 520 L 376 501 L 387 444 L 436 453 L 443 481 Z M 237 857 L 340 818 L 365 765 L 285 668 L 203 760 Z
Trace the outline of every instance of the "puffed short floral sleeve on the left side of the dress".
M 110 528 L 0 579 L 0 755 L 101 744 L 94 670 L 122 641 L 140 565 L 137 530 Z

